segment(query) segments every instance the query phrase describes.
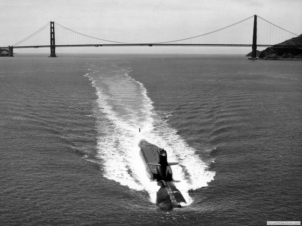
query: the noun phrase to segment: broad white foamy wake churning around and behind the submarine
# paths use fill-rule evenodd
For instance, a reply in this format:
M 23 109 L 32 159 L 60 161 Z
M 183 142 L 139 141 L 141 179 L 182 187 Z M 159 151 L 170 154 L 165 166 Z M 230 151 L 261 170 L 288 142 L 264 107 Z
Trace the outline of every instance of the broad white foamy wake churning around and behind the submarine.
M 85 74 L 98 96 L 98 157 L 103 160 L 104 177 L 131 189 L 146 190 L 155 202 L 159 186 L 146 176 L 139 156 L 138 143 L 145 139 L 165 148 L 169 162 L 179 162 L 172 166 L 173 178 L 190 204 L 193 200 L 188 190 L 207 186 L 215 173 L 206 171 L 207 165 L 195 150 L 158 116 L 144 85 L 130 77 L 128 71 L 116 71 L 113 66 L 115 71 L 110 74 Z

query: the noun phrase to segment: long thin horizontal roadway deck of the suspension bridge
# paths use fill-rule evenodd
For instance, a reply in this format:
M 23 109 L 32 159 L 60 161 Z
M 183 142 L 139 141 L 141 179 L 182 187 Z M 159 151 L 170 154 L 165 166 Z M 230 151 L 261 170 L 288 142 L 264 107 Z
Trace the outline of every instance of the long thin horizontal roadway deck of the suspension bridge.
M 160 44 L 160 43 L 137 43 L 137 44 L 84 44 L 84 45 L 56 45 L 56 47 L 100 47 L 100 46 L 228 46 L 228 47 L 251 47 L 252 44 Z M 257 47 L 271 47 L 275 48 L 302 48 L 302 46 L 275 46 L 275 45 L 257 45 Z M 50 48 L 50 46 L 13 46 L 14 49 L 24 48 Z M 1 47 L 1 49 L 8 49 Z

